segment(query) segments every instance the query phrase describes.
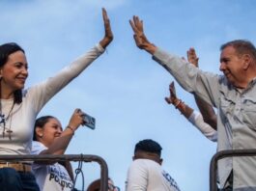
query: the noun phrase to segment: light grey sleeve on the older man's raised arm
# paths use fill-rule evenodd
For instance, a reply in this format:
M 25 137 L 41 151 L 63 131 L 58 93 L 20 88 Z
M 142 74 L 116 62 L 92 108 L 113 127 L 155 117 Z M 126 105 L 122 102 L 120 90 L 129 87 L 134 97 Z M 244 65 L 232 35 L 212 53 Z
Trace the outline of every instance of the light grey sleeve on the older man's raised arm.
M 160 48 L 156 49 L 153 59 L 170 72 L 187 92 L 200 96 L 214 107 L 218 105 L 219 75 L 202 71 Z

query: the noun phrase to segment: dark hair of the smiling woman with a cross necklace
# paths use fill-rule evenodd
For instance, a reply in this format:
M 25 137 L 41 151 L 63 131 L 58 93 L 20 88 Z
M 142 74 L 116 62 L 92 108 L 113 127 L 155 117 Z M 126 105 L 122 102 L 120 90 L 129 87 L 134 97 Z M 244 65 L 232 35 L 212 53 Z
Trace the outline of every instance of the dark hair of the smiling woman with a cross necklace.
M 0 45 L 0 68 L 2 68 L 8 61 L 8 57 L 16 51 L 25 51 L 15 42 L 4 43 Z M 0 89 L 1 91 L 1 89 Z M 16 90 L 14 92 L 14 103 L 22 102 L 22 90 Z

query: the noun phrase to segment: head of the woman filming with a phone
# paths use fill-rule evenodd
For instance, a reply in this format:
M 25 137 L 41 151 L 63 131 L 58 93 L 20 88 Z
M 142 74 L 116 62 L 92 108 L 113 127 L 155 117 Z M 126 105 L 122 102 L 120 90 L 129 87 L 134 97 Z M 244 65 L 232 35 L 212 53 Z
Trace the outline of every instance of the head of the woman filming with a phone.
M 62 124 L 58 119 L 53 116 L 43 116 L 36 120 L 33 141 L 49 147 L 55 138 L 61 136 L 62 131 Z

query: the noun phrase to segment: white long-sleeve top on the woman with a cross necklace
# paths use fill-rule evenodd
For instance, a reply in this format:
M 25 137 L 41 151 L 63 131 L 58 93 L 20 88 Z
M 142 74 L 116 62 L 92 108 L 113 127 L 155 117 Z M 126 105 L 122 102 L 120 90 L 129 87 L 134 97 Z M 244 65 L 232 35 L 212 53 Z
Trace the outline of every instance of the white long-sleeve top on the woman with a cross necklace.
M 22 102 L 14 104 L 13 112 L 6 122 L 6 130 L 11 128 L 13 131 L 12 140 L 7 132 L 4 138 L 0 136 L 0 154 L 30 154 L 34 123 L 45 103 L 95 61 L 103 51 L 98 44 L 53 77 L 23 91 Z M 8 116 L 13 102 L 13 99 L 1 99 L 2 114 Z M 1 134 L 3 127 L 3 123 L 0 123 Z

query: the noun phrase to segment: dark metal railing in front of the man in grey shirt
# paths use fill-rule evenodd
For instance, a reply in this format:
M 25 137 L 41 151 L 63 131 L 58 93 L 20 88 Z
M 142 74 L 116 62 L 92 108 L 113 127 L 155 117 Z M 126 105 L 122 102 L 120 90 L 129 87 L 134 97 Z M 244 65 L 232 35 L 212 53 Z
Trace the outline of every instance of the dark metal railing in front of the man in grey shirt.
M 217 191 L 217 161 L 226 157 L 256 156 L 256 150 L 222 150 L 213 155 L 210 165 L 210 191 Z

